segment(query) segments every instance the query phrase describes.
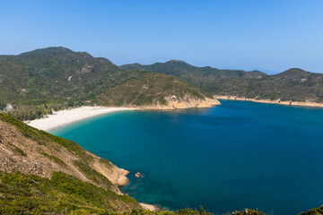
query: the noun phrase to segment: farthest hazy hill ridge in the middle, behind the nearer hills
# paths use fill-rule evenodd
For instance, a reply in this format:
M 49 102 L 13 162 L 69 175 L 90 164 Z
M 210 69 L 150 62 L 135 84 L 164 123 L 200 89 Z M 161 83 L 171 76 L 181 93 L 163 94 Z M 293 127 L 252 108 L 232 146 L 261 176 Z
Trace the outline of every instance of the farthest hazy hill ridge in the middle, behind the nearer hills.
M 141 69 L 155 73 L 165 73 L 177 76 L 187 82 L 194 84 L 202 90 L 207 89 L 208 82 L 227 78 L 262 78 L 267 74 L 259 71 L 245 72 L 243 70 L 220 70 L 210 66 L 197 67 L 184 61 L 170 60 L 166 63 L 155 63 L 149 65 L 125 64 L 120 68 L 124 70 Z

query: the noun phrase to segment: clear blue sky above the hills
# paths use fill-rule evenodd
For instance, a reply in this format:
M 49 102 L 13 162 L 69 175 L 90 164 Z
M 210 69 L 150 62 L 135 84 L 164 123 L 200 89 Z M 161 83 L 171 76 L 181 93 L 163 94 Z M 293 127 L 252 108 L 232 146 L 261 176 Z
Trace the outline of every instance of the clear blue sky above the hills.
M 115 64 L 323 73 L 323 0 L 0 0 L 0 54 L 63 46 Z

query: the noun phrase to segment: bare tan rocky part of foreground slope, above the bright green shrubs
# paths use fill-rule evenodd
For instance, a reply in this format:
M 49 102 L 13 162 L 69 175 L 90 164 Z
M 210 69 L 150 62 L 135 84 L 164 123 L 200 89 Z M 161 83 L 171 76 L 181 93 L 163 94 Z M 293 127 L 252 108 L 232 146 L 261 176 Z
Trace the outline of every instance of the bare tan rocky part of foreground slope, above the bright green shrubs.
M 71 181 L 92 186 L 93 190 L 98 189 L 98 193 L 108 192 L 105 196 L 109 197 L 110 211 L 140 208 L 133 198 L 123 195 L 118 189 L 119 185 L 127 185 L 127 170 L 83 150 L 75 142 L 39 131 L 0 114 L 0 173 L 12 176 L 17 172 L 26 175 L 22 175 L 23 177 L 39 176 L 44 178 L 41 180 L 48 180 L 47 183 L 56 180 L 59 173 L 63 175 L 58 176 L 71 177 Z M 1 176 L 7 177 L 5 174 Z M 0 184 L 2 185 L 1 178 Z M 6 187 L 6 184 L 3 186 Z M 4 197 L 0 198 L 1 207 L 3 199 L 7 197 L 2 189 L 0 196 Z M 5 203 L 10 204 L 10 201 Z

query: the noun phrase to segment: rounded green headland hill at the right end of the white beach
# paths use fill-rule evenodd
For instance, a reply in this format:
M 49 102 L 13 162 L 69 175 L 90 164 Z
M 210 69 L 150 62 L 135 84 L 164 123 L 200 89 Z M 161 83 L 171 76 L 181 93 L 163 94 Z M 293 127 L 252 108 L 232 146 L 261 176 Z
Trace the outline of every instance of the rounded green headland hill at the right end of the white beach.
M 167 105 L 165 98 L 175 96 L 183 98 L 185 95 L 195 99 L 205 99 L 205 95 L 193 85 L 177 77 L 162 73 L 143 73 L 109 90 L 103 104 L 118 104 L 119 106 L 140 107 L 142 105 Z

